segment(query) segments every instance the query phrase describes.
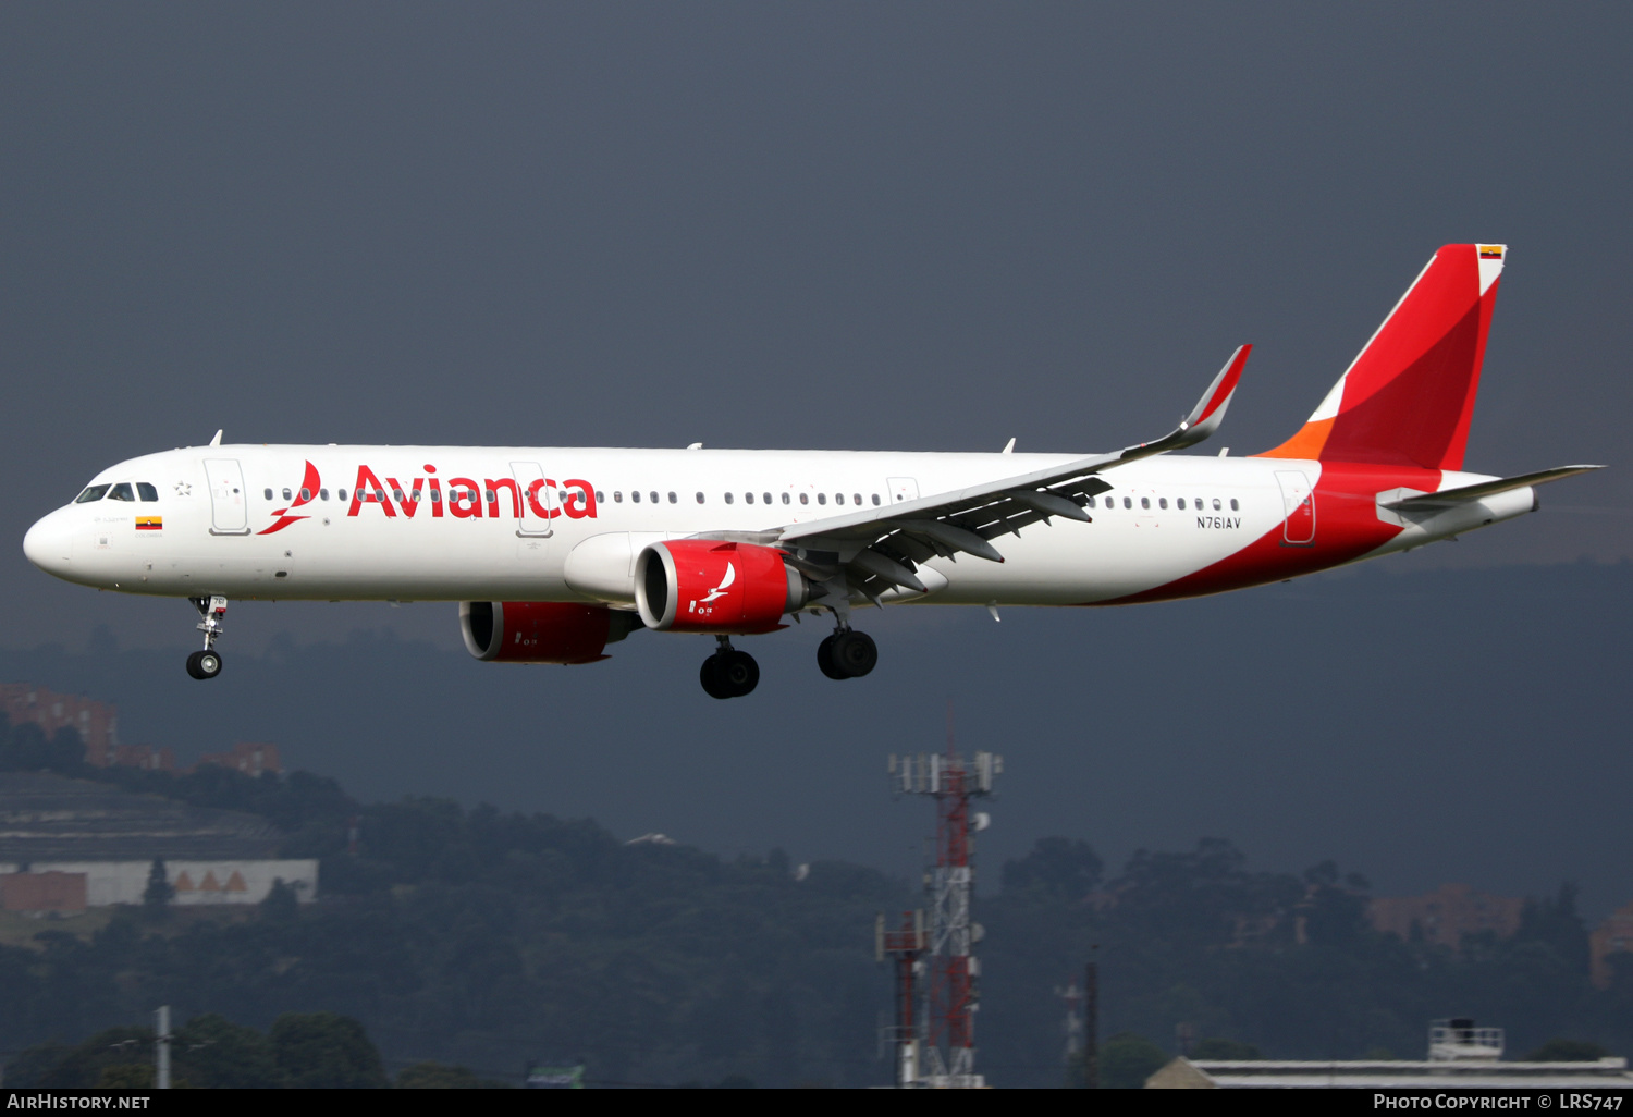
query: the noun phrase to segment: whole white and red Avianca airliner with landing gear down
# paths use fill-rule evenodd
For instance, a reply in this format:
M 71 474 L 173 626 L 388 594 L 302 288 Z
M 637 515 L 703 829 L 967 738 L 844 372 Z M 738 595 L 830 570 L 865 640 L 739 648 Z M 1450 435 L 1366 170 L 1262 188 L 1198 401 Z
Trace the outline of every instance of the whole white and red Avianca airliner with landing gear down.
M 1290 439 L 1187 456 L 1251 346 L 1171 433 L 1110 454 L 470 446 L 232 446 L 119 462 L 23 541 L 41 570 L 186 598 L 202 648 L 238 599 L 449 601 L 469 652 L 593 663 L 637 630 L 714 637 L 717 699 L 759 681 L 733 647 L 826 616 L 816 665 L 869 674 L 859 609 L 1125 606 L 1284 581 L 1514 519 L 1537 487 L 1463 470 L 1506 245 L 1447 245 Z

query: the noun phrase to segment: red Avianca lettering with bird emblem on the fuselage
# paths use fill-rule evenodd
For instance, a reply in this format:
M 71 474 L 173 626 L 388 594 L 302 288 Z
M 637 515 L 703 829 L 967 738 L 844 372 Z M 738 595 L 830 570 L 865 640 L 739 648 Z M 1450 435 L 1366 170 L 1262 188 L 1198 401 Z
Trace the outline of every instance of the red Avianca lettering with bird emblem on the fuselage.
M 287 508 L 273 513 L 273 524 L 258 534 L 269 536 L 283 531 L 299 519 L 310 519 L 310 514 L 294 516 L 300 508 L 322 492 L 322 478 L 317 465 L 305 464 L 305 477 L 300 480 L 300 492 Z M 345 500 L 346 492 L 340 496 Z M 376 506 L 387 519 L 413 519 L 420 508 L 429 505 L 431 519 L 534 519 L 550 521 L 567 514 L 568 519 L 596 518 L 596 488 L 590 482 L 570 477 L 557 483 L 550 477 L 539 477 L 526 485 L 514 477 L 449 477 L 447 488 L 436 472 L 436 465 L 426 462 L 420 477 L 410 477 L 408 483 L 387 475 L 384 480 L 371 465 L 358 465 L 358 482 L 353 485 L 346 516 L 361 516 L 364 508 Z

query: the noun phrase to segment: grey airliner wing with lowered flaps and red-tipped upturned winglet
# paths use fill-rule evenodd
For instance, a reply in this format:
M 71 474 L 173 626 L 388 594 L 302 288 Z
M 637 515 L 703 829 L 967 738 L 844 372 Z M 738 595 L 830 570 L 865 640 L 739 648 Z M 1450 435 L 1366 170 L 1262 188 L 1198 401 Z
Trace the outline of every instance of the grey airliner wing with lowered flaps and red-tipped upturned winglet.
M 895 586 L 926 593 L 914 575 L 916 563 L 936 555 L 957 558 L 959 554 L 1003 562 L 991 542 L 999 536 L 1037 521 L 1048 523 L 1053 516 L 1089 523 L 1083 506 L 1089 496 L 1110 488 L 1099 474 L 1195 446 L 1217 431 L 1251 349 L 1251 345 L 1239 346 L 1190 415 L 1156 441 L 885 508 L 758 532 L 754 542 L 790 552 L 789 560 L 816 578 L 833 578 L 843 568 L 846 581 L 875 603 Z

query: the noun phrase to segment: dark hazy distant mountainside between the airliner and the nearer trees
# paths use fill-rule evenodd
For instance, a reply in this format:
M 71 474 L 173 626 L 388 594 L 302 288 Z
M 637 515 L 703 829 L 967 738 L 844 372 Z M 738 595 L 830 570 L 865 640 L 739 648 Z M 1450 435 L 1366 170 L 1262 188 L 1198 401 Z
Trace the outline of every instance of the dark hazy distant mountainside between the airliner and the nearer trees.
M 1442 544 L 1457 545 L 1457 544 Z M 1393 893 L 1447 880 L 1507 895 L 1582 885 L 1630 898 L 1623 789 L 1633 567 L 1349 575 L 1137 609 L 862 611 L 867 679 L 816 673 L 821 625 L 746 642 L 764 681 L 714 702 L 707 640 L 635 634 L 606 663 L 475 663 L 380 635 L 224 643 L 186 678 L 173 652 L 0 652 L 0 679 L 119 705 L 127 743 L 183 761 L 276 741 L 287 768 L 366 799 L 434 792 L 593 817 L 715 851 L 782 846 L 914 874 L 929 820 L 893 803 L 892 751 L 959 738 L 1008 756 L 981 856 L 1045 834 L 1107 856 L 1231 834 L 1256 862 L 1310 851 Z M 181 603 L 155 622 L 191 624 Z M 240 629 L 322 604 L 245 606 Z M 452 606 L 444 609 L 454 624 Z M 996 864 L 996 861 L 990 862 Z

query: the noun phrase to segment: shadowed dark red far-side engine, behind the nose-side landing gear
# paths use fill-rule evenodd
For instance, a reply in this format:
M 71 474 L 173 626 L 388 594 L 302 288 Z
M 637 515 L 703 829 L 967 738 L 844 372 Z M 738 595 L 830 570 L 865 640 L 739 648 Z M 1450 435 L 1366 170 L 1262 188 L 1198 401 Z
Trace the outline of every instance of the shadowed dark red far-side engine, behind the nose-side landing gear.
M 594 663 L 640 627 L 634 612 L 572 601 L 461 601 L 465 650 L 496 663 Z

